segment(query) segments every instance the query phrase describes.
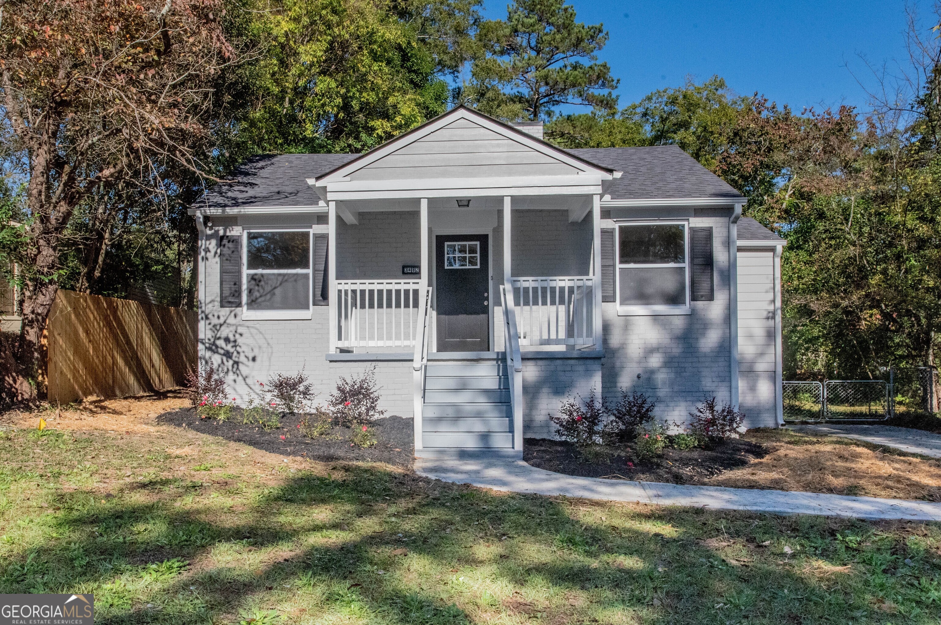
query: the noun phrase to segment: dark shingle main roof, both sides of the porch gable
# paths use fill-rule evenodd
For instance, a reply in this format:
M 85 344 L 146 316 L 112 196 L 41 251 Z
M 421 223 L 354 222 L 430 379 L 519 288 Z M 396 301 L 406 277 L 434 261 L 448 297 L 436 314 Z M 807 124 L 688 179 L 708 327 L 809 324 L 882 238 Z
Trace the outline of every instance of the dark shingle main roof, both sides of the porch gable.
M 609 189 L 612 199 L 742 197 L 678 146 L 568 151 L 591 163 L 623 172 Z M 234 172 L 235 182 L 216 184 L 205 199 L 211 209 L 315 206 L 320 197 L 307 179 L 326 174 L 358 156 L 282 154 L 255 157 Z

